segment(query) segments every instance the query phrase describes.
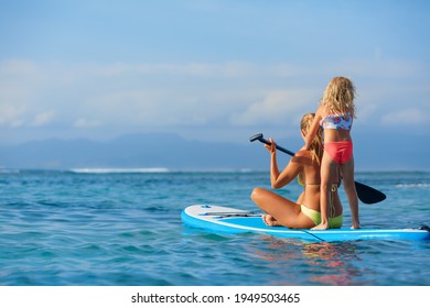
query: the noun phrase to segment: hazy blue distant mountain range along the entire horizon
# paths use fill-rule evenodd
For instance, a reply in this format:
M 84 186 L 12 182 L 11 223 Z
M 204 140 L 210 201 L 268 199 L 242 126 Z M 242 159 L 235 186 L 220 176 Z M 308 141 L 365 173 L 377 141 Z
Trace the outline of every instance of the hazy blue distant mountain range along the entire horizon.
M 362 133 L 354 135 L 357 170 L 429 170 L 430 146 L 422 136 Z M 297 151 L 300 136 L 279 144 Z M 279 154 L 279 167 L 289 156 Z M 265 169 L 268 152 L 256 143 L 191 141 L 175 134 L 129 134 L 108 142 L 50 139 L 0 147 L 3 168 L 154 168 Z

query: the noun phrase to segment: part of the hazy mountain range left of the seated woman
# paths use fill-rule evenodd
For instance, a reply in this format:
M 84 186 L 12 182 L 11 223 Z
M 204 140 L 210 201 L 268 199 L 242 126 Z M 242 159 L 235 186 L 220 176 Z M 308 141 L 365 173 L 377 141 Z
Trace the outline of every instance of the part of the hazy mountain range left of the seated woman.
M 130 134 L 109 142 L 50 139 L 0 147 L 0 165 L 7 168 L 265 169 L 267 158 L 261 146 L 190 141 L 175 134 Z

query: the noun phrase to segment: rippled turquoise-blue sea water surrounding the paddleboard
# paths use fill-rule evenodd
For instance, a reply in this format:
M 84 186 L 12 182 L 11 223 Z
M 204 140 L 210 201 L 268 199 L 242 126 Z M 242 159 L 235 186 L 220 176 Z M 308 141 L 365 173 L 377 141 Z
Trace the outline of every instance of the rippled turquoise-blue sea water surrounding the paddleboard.
M 356 179 L 388 196 L 361 205 L 363 227 L 430 224 L 430 173 Z M 252 172 L 3 172 L 0 285 L 430 285 L 430 242 L 307 243 L 180 220 L 192 204 L 255 209 L 252 187 L 268 185 Z

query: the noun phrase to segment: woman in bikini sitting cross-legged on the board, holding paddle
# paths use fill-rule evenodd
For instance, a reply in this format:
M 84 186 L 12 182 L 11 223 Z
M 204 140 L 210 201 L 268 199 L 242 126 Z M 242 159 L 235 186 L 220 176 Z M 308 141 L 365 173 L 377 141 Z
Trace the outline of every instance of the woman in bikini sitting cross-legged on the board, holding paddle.
M 301 121 L 301 134 L 305 139 L 315 114 L 308 113 Z M 268 226 L 284 226 L 294 229 L 311 229 L 321 223 L 320 212 L 320 164 L 323 155 L 322 131 L 319 130 L 309 150 L 301 150 L 291 158 L 286 168 L 279 172 L 276 143 L 265 145 L 270 152 L 270 182 L 275 189 L 281 188 L 299 177 L 304 188 L 297 202 L 288 200 L 270 190 L 255 188 L 251 199 L 267 212 L 262 219 Z M 341 228 L 343 223 L 342 204 L 337 195 L 338 175 L 333 179 L 330 205 L 330 228 Z

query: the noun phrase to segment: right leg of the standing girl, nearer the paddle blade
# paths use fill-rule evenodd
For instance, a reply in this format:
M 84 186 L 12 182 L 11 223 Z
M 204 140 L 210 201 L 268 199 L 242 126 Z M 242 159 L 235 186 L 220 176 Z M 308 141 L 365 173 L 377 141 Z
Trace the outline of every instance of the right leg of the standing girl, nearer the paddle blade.
M 343 185 L 350 202 L 351 216 L 353 218 L 353 226 L 351 228 L 359 229 L 358 197 L 354 183 L 354 156 L 352 156 L 347 163 L 341 165 L 341 170 L 343 175 Z

